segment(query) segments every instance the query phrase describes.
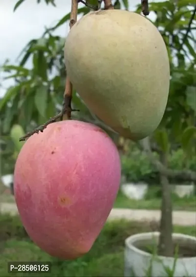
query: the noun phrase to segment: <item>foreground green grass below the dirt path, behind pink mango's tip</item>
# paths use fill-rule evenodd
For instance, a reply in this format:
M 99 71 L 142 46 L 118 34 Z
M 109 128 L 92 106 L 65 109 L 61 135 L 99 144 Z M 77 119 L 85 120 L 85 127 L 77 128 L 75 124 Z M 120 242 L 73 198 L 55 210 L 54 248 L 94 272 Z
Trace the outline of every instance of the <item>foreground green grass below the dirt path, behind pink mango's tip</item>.
M 63 261 L 40 250 L 26 234 L 18 216 L 0 215 L 0 277 L 123 277 L 124 240 L 151 231 L 149 223 L 106 223 L 91 251 L 74 261 Z M 174 226 L 174 232 L 196 235 L 196 227 Z M 10 261 L 50 261 L 51 273 L 8 274 Z

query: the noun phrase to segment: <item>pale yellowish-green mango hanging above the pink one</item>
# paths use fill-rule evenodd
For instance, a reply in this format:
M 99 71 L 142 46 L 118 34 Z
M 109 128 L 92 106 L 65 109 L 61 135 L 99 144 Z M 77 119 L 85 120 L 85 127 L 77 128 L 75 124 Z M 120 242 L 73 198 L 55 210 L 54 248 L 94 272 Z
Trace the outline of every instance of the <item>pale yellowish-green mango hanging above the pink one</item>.
M 137 141 L 160 124 L 170 87 L 166 45 L 147 18 L 99 10 L 71 29 L 64 49 L 67 75 L 100 120 Z

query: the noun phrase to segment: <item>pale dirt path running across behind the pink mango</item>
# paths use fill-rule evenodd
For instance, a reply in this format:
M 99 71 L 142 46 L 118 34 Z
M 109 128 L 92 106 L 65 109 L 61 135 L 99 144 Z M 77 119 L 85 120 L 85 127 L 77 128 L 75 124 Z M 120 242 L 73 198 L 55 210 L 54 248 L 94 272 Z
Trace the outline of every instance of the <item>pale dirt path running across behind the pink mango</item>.
M 0 203 L 1 213 L 18 214 L 15 203 Z M 159 210 L 133 210 L 133 209 L 112 209 L 108 220 L 127 219 L 132 221 L 159 221 Z M 173 211 L 173 224 L 181 226 L 196 225 L 196 212 Z

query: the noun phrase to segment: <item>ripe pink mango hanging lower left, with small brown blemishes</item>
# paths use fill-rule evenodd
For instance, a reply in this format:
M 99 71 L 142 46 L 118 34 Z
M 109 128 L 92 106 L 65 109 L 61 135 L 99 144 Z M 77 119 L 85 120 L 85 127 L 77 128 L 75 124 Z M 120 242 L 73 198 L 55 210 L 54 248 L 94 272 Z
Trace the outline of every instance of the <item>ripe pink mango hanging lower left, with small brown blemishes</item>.
M 52 256 L 87 253 L 120 178 L 118 150 L 102 129 L 74 120 L 50 124 L 25 142 L 15 165 L 15 198 L 28 235 Z

